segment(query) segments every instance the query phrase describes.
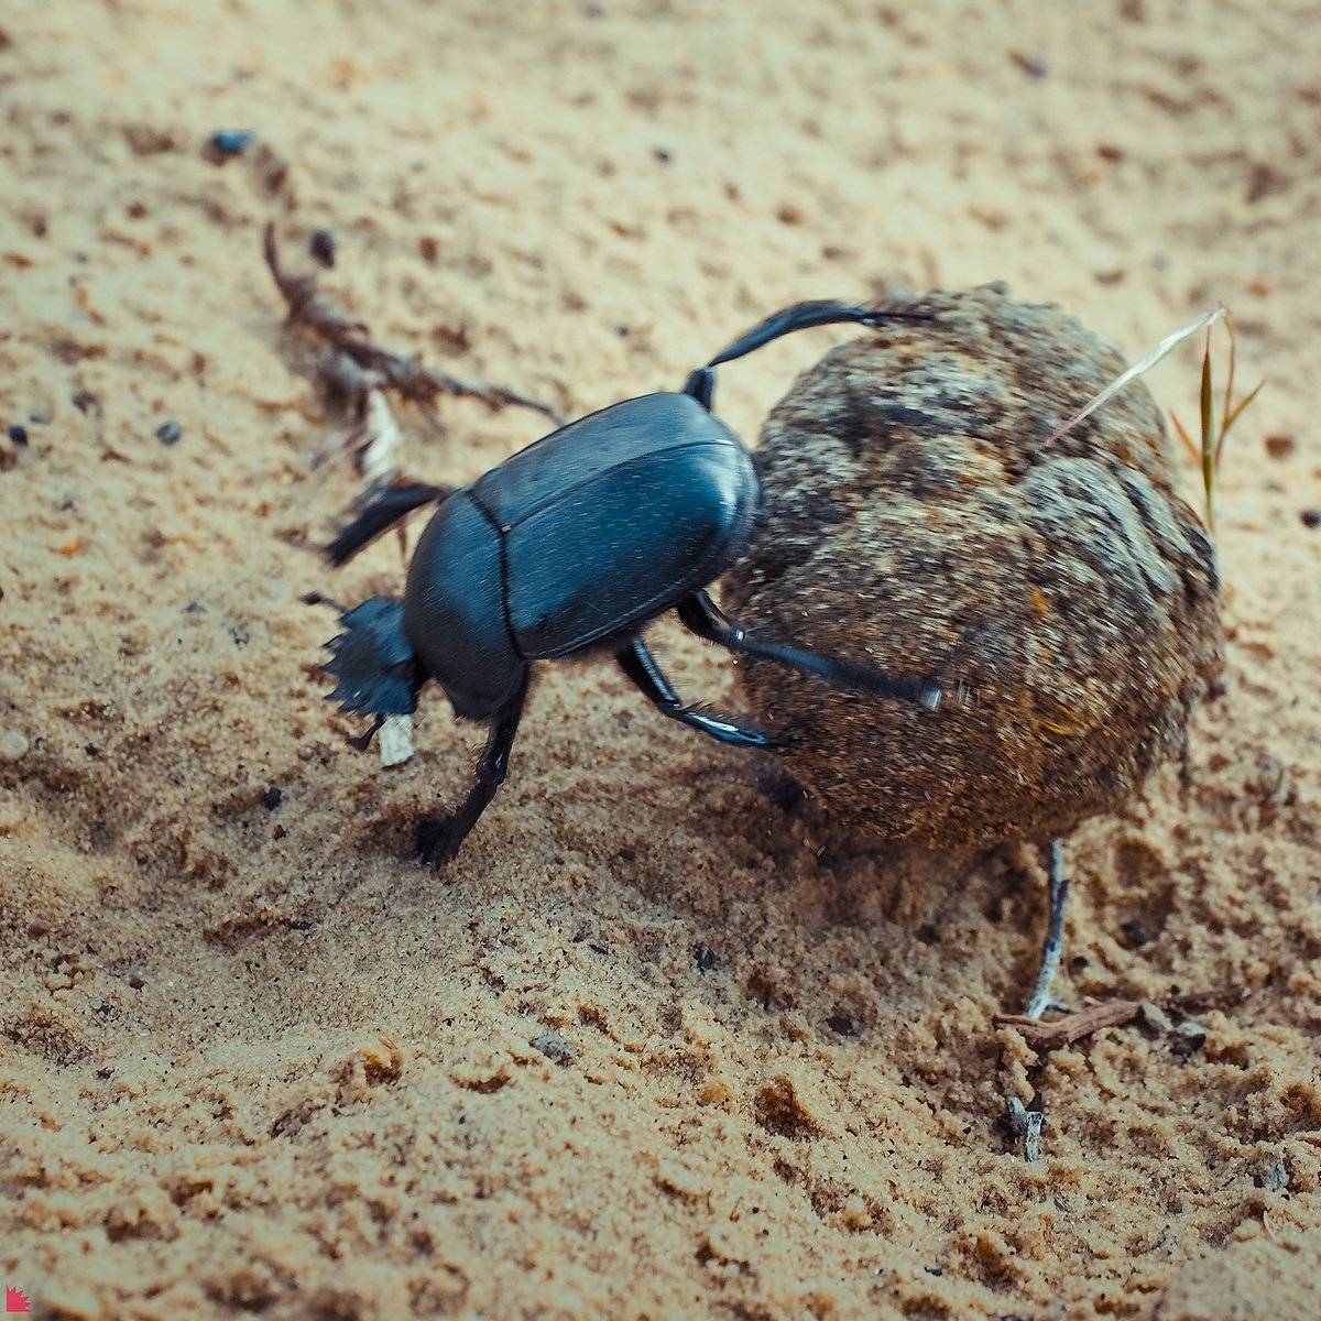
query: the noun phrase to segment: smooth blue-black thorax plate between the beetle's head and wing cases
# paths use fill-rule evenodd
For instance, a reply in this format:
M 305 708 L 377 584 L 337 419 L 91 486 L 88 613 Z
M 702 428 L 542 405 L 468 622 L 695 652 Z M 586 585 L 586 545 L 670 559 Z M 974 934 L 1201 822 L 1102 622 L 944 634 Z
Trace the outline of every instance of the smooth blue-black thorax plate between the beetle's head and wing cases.
M 522 682 L 505 616 L 501 535 L 466 490 L 441 505 L 417 542 L 404 630 L 460 716 L 490 716 Z

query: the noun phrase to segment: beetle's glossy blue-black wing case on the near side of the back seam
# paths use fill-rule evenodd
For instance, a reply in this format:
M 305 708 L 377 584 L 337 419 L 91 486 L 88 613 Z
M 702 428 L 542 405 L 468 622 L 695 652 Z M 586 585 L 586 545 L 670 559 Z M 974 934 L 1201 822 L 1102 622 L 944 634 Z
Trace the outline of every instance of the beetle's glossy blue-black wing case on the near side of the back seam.
M 528 659 L 627 633 L 742 552 L 757 478 L 732 435 L 597 469 L 509 527 L 509 617 Z

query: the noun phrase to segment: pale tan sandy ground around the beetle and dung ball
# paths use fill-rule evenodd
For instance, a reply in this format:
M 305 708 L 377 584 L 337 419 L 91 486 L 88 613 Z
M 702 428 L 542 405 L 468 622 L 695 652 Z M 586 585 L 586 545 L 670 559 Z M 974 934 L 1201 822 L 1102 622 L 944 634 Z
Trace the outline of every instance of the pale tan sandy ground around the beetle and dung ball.
M 0 1272 L 38 1314 L 1321 1314 L 1317 5 L 9 0 L 0 115 Z M 222 127 L 256 143 L 215 164 Z M 1036 1067 L 991 1021 L 1029 855 L 851 853 L 604 666 L 546 674 L 465 855 L 416 867 L 480 734 L 433 697 L 383 771 L 321 701 L 300 597 L 400 561 L 314 553 L 357 478 L 309 474 L 269 218 L 300 264 L 334 231 L 387 342 L 565 411 L 799 297 L 1004 279 L 1131 354 L 1230 304 L 1269 386 L 1225 692 L 1185 783 L 1071 841 L 1062 985 L 1205 1040 Z M 727 373 L 725 416 L 839 338 Z M 1194 413 L 1192 350 L 1152 387 Z M 436 480 L 538 433 L 441 412 L 406 417 Z

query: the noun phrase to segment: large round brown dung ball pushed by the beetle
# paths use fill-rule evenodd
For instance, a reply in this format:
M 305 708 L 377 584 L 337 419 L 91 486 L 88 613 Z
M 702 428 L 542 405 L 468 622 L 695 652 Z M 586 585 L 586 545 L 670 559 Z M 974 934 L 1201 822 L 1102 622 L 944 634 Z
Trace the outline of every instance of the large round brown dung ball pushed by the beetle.
M 1050 439 L 1124 370 L 1114 349 L 1001 285 L 913 306 L 931 320 L 835 349 L 771 412 L 760 532 L 723 596 L 762 637 L 934 676 L 947 699 L 765 662 L 741 682 L 841 828 L 1052 839 L 1182 748 L 1223 659 L 1215 552 L 1140 382 Z

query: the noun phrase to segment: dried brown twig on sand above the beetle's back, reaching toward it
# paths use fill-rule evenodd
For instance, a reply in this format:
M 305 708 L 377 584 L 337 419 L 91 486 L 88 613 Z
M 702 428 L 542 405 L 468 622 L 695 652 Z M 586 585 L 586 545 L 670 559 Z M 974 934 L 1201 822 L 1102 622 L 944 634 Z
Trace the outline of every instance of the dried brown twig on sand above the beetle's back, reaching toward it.
M 267 225 L 263 235 L 266 264 L 271 277 L 284 297 L 289 309 L 289 322 L 305 326 L 337 350 L 337 357 L 347 358 L 357 373 L 345 371 L 345 363 L 328 365 L 328 379 L 341 390 L 349 390 L 350 396 L 361 396 L 370 388 L 395 390 L 402 399 L 421 407 L 429 406 L 439 395 L 460 395 L 480 399 L 489 408 L 530 408 L 548 417 L 556 425 L 563 421 L 550 404 L 522 395 L 505 386 L 493 386 L 483 380 L 464 380 L 444 371 L 425 367 L 416 358 L 404 358 L 391 353 L 371 339 L 361 321 L 354 321 L 337 303 L 317 288 L 314 275 L 292 275 L 280 260 L 280 248 L 275 236 L 275 225 Z

